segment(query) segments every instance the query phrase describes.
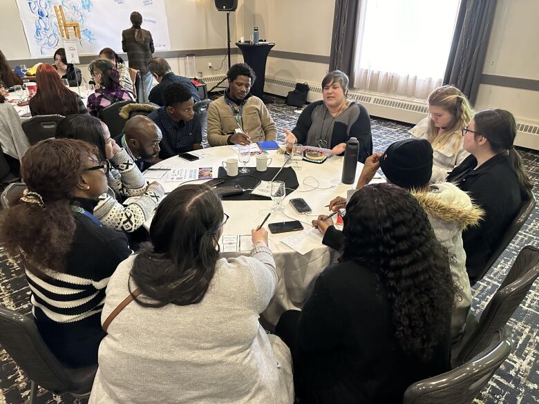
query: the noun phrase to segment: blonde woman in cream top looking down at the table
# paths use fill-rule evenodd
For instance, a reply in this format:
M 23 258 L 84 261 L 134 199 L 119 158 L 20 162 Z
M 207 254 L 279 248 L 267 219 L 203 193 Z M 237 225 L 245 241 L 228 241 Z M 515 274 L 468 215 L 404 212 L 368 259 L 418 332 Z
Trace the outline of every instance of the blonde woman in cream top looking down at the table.
M 428 96 L 430 115 L 410 129 L 410 134 L 426 139 L 433 146 L 434 161 L 431 183 L 444 182 L 449 172 L 470 153 L 462 145 L 462 128 L 473 112 L 468 99 L 453 86 L 436 88 Z

